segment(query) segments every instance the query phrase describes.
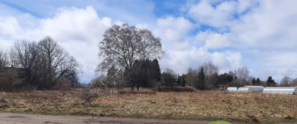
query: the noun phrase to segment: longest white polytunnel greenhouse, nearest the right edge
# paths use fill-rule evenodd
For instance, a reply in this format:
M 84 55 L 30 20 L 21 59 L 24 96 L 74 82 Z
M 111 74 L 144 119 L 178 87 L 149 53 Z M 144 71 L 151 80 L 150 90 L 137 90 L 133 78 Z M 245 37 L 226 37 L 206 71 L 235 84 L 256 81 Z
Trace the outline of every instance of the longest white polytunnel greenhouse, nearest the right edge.
M 263 93 L 267 94 L 290 94 L 297 92 L 297 87 L 265 87 Z

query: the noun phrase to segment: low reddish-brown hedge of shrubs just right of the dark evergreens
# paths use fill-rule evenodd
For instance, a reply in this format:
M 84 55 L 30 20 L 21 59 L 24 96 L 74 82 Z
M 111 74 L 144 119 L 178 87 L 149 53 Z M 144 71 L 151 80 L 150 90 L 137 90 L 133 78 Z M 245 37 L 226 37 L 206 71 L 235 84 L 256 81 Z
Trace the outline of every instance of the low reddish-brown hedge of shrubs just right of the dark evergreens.
M 159 92 L 196 92 L 194 87 L 160 87 Z

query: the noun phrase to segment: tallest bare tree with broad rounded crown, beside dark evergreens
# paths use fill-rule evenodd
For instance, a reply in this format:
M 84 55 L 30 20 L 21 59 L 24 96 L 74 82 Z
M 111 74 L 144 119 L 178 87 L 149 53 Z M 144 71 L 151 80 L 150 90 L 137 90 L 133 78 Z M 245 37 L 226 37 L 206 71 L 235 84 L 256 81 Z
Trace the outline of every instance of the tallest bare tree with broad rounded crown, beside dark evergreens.
M 114 24 L 103 34 L 99 43 L 98 72 L 107 72 L 114 67 L 116 73 L 127 74 L 131 87 L 135 86 L 132 65 L 136 60 L 160 58 L 162 51 L 161 39 L 147 29 L 135 26 Z

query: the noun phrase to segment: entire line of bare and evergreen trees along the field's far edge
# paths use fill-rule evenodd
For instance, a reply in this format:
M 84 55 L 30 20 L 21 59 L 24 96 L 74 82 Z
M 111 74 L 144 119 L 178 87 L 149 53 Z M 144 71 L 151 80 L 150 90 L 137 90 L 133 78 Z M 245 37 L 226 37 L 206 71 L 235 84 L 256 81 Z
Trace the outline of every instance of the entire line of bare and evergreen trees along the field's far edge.
M 159 37 L 147 29 L 135 26 L 112 25 L 98 45 L 100 62 L 97 76 L 89 86 L 102 89 L 130 87 L 156 89 L 160 87 L 190 86 L 198 90 L 217 87 L 294 86 L 297 79 L 285 76 L 277 84 L 271 76 L 261 81 L 249 75 L 247 67 L 219 74 L 213 62 L 205 62 L 197 69 L 177 74 L 170 68 L 161 72 L 158 59 L 165 52 Z M 61 86 L 78 87 L 81 67 L 56 40 L 50 36 L 39 42 L 16 41 L 9 50 L 0 49 L 0 90 L 36 87 L 52 89 Z

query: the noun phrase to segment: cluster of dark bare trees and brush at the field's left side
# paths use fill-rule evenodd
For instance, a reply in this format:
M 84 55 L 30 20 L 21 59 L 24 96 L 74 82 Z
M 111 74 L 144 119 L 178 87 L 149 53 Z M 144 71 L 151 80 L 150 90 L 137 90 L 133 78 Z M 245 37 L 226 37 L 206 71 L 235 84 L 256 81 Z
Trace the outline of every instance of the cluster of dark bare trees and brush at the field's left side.
M 0 90 L 80 85 L 77 60 L 50 36 L 39 42 L 16 41 L 8 50 L 1 48 L 0 68 Z

